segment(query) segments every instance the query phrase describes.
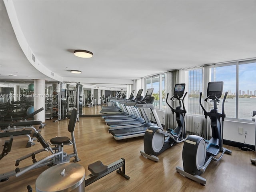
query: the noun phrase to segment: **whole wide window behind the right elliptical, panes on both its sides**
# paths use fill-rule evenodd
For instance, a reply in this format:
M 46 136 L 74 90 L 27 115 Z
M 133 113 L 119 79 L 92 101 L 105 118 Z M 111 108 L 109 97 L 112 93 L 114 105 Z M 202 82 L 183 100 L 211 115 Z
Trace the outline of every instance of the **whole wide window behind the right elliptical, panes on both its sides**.
M 202 114 L 199 94 L 203 92 L 203 80 L 208 78 L 209 81 L 224 82 L 218 111 L 222 112 L 222 100 L 225 92 L 228 92 L 224 104 L 226 117 L 250 120 L 250 113 L 256 110 L 256 60 L 215 64 L 210 66 L 210 71 L 206 71 L 206 67 L 204 70 L 203 68 L 188 70 L 188 113 Z M 207 77 L 204 77 L 205 75 Z M 203 98 L 206 96 L 203 95 Z M 211 104 L 209 106 L 212 107 Z

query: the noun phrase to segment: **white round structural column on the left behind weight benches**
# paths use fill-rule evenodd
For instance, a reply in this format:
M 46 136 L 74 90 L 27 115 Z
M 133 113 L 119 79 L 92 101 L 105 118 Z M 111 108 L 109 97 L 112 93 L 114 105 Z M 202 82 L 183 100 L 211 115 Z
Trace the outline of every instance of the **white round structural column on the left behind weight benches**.
M 44 90 L 45 82 L 42 79 L 34 80 L 34 111 L 40 109 L 41 107 L 45 107 L 45 90 Z M 38 114 L 34 115 L 34 120 L 45 121 L 45 112 L 42 110 Z

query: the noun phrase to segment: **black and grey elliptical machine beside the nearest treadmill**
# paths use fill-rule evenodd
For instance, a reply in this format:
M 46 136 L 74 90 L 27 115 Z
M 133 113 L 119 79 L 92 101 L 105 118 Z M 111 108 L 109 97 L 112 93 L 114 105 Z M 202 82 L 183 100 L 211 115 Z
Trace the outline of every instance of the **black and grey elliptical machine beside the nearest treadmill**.
M 177 143 L 183 142 L 186 138 L 186 127 L 185 127 L 185 114 L 186 109 L 184 106 L 184 98 L 187 94 L 185 93 L 183 99 L 182 96 L 184 94 L 185 84 L 176 84 L 174 87 L 174 95 L 170 100 L 178 100 L 179 106 L 176 109 L 172 108 L 170 104 L 168 104 L 168 95 L 166 97 L 166 103 L 172 110 L 172 114 L 176 113 L 176 121 L 178 126 L 172 130 L 168 129 L 167 132 L 158 126 L 150 126 L 144 135 L 144 150 L 140 151 L 140 154 L 145 156 L 146 158 L 158 162 L 159 158 L 157 157 L 159 154 L 164 152 L 166 149 L 174 146 Z M 182 103 L 181 103 L 182 101 Z M 183 105 L 183 109 L 182 109 Z

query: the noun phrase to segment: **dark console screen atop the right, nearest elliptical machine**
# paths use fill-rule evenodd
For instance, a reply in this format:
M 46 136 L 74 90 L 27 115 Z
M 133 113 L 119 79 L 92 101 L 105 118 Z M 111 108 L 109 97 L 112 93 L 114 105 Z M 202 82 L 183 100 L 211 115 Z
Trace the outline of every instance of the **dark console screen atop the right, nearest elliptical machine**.
M 210 99 L 219 99 L 222 95 L 223 81 L 209 82 L 207 88 L 207 97 Z M 216 97 L 215 97 L 216 96 Z

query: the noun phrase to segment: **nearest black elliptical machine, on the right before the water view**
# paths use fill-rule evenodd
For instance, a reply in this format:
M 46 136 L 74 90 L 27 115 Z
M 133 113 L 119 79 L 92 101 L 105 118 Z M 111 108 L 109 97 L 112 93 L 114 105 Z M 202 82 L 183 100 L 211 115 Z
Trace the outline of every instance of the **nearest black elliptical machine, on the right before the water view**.
M 232 151 L 224 148 L 223 145 L 223 124 L 224 118 L 226 117 L 224 113 L 224 103 L 228 92 L 225 93 L 224 99 L 222 101 L 222 113 L 218 113 L 217 102 L 220 102 L 219 98 L 222 95 L 223 82 L 209 82 L 207 88 L 207 98 L 208 102 L 214 102 L 214 109 L 207 112 L 202 106 L 201 98 L 202 92 L 200 93 L 200 106 L 204 111 L 204 115 L 207 121 L 207 117 L 210 117 L 211 128 L 212 128 L 212 138 L 207 141 L 204 138 L 197 135 L 189 135 L 183 146 L 182 160 L 183 167 L 176 167 L 176 171 L 196 182 L 199 182 L 203 186 L 206 184 L 206 179 L 201 177 L 200 174 L 204 173 L 207 166 L 212 160 L 219 161 L 224 153 L 231 154 Z M 220 118 L 222 119 L 222 126 L 220 124 Z M 206 127 L 204 133 L 206 134 Z M 216 158 L 219 152 L 222 152 L 219 158 Z

